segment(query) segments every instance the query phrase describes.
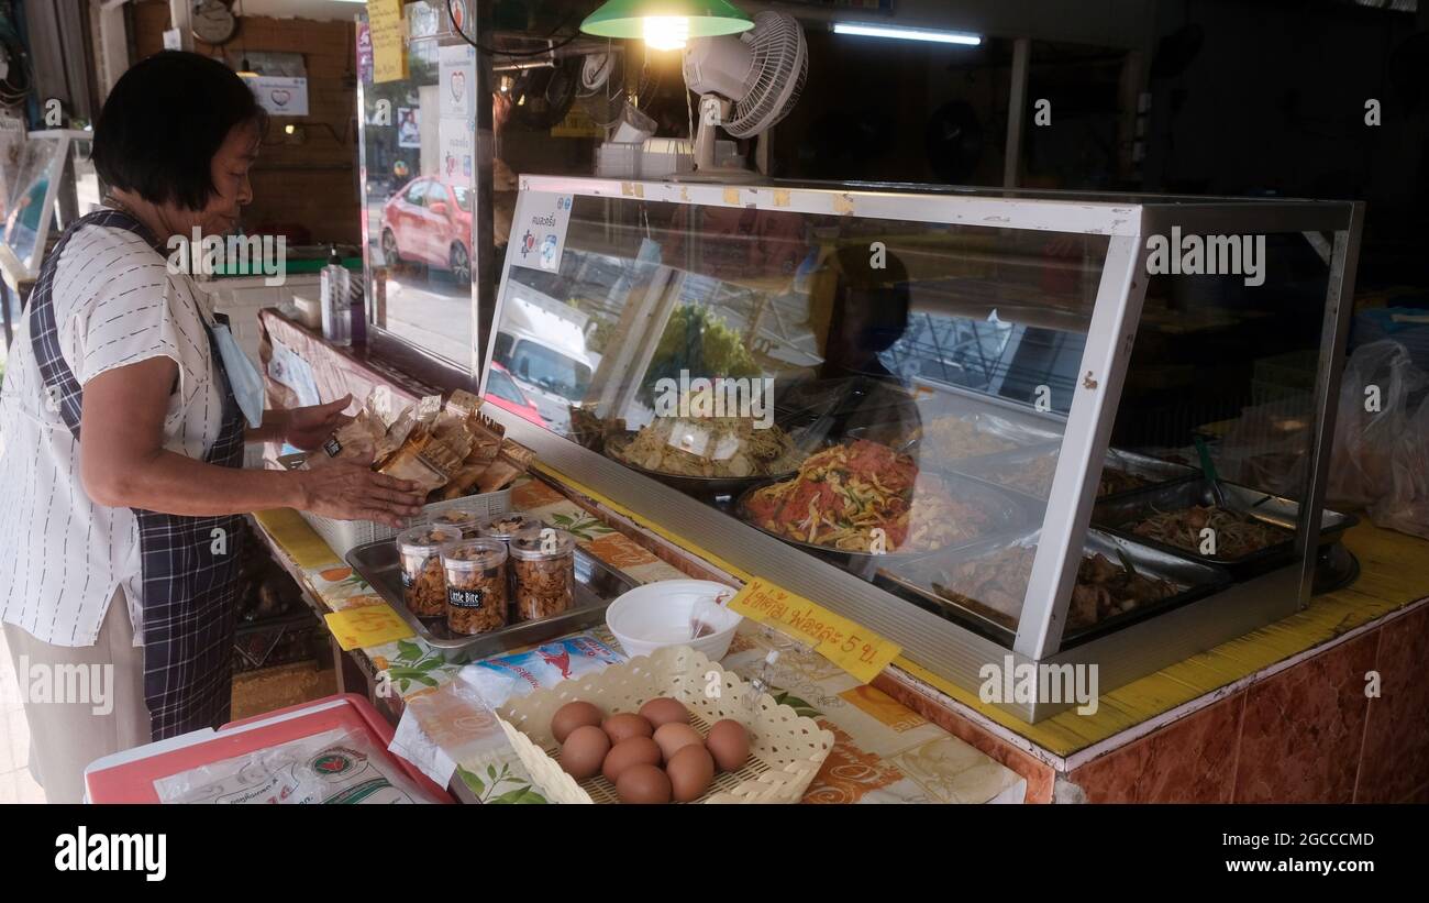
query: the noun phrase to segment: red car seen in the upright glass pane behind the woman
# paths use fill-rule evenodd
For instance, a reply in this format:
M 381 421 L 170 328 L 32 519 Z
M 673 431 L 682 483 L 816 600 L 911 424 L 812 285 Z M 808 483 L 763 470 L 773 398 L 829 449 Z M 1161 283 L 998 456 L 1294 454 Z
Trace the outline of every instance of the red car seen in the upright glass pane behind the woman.
M 426 263 L 472 281 L 472 190 L 432 176 L 413 179 L 382 209 L 382 259 Z

